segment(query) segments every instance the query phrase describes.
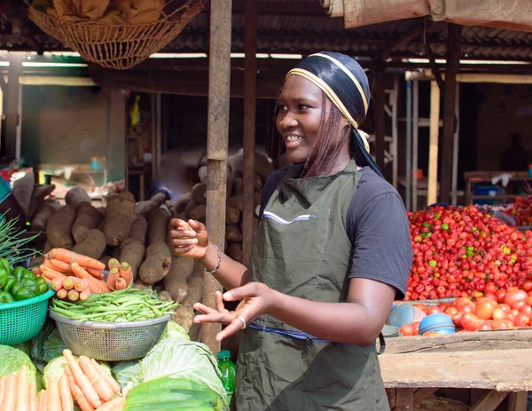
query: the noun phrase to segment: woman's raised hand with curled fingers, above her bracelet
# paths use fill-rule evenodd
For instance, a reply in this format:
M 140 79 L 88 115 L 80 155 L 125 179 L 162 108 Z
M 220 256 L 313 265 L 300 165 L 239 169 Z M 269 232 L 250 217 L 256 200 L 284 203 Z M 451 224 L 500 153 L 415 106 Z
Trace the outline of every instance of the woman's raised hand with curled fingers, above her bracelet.
M 196 220 L 171 221 L 170 239 L 178 256 L 200 260 L 207 254 L 208 233 L 205 225 Z

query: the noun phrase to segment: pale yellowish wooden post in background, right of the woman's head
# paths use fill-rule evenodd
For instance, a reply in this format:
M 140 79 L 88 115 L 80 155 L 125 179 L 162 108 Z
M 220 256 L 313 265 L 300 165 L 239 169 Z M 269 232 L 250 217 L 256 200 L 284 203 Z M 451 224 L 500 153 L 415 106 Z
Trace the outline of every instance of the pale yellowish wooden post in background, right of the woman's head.
M 440 87 L 430 83 L 430 144 L 428 147 L 428 187 L 426 204 L 434 204 L 438 194 L 438 133 L 440 131 Z

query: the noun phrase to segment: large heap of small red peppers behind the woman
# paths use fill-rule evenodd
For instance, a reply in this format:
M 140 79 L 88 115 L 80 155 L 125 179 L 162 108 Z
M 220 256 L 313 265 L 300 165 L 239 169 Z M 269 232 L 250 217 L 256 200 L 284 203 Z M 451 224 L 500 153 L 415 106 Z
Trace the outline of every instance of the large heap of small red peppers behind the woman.
M 408 213 L 414 260 L 405 300 L 495 294 L 532 278 L 532 232 L 474 206 Z

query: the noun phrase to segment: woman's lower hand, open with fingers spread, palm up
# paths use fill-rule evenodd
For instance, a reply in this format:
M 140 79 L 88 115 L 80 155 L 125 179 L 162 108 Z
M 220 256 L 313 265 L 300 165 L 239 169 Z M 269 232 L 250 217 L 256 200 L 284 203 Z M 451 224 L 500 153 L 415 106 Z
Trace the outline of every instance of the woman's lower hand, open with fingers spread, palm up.
M 203 312 L 203 314 L 194 317 L 194 322 L 220 322 L 227 324 L 216 336 L 217 341 L 232 336 L 239 329 L 251 324 L 259 315 L 268 312 L 274 297 L 274 291 L 261 282 L 249 282 L 243 287 L 233 288 L 225 294 L 216 291 L 216 308 L 207 307 L 204 304 L 194 304 L 194 309 Z M 240 301 L 237 309 L 230 312 L 223 306 L 225 301 Z

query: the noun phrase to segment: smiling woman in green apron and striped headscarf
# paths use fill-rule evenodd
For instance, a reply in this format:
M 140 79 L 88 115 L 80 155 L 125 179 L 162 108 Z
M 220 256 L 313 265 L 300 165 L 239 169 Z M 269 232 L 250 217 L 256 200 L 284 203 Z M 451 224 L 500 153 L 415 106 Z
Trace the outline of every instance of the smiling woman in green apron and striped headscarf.
M 264 186 L 249 269 L 208 241 L 205 226 L 175 219 L 176 252 L 228 289 L 195 322 L 243 332 L 239 410 L 384 410 L 375 340 L 411 267 L 408 221 L 356 130 L 370 99 L 364 70 L 321 52 L 287 75 L 277 129 L 295 166 Z M 225 301 L 241 301 L 235 312 Z

